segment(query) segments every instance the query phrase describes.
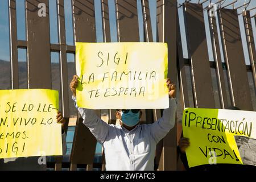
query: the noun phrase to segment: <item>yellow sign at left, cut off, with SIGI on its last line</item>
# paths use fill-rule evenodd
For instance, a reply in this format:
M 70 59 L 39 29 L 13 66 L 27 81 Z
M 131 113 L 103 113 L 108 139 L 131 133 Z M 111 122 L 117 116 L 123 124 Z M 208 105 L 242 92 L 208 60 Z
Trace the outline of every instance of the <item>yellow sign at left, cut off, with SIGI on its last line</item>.
M 0 158 L 62 155 L 59 93 L 0 90 Z

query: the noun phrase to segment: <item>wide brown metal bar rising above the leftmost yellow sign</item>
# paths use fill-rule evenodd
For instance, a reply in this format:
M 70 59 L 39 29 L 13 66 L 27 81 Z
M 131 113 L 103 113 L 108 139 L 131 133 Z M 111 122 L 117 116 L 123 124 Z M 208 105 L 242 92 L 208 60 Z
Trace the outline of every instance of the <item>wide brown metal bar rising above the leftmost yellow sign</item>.
M 46 5 L 46 16 L 38 15 L 38 5 Z M 51 89 L 51 52 L 48 0 L 27 0 L 28 88 Z

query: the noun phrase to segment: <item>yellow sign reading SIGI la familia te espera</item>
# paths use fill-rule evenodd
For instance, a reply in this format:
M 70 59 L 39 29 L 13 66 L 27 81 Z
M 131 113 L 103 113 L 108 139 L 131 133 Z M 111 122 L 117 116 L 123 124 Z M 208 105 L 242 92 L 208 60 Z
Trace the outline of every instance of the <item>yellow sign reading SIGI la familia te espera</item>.
M 166 43 L 76 43 L 77 105 L 167 108 Z

